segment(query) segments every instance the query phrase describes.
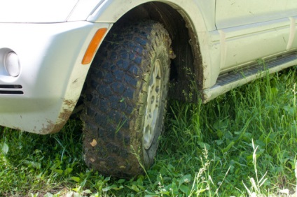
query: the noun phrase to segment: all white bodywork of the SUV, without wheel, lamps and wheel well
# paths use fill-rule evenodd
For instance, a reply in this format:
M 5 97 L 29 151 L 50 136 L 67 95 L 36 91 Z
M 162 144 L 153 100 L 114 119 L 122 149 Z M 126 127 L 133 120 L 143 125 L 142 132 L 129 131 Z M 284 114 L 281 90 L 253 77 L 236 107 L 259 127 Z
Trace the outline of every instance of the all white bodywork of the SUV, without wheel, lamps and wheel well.
M 0 0 L 0 125 L 39 134 L 59 131 L 81 94 L 90 67 L 81 60 L 92 36 L 146 2 L 151 1 Z M 219 87 L 220 74 L 297 50 L 296 0 L 159 2 L 178 10 L 197 38 L 205 101 L 254 79 Z M 18 77 L 4 68 L 8 50 L 18 54 Z M 14 85 L 21 85 L 16 90 L 23 94 L 1 94 Z

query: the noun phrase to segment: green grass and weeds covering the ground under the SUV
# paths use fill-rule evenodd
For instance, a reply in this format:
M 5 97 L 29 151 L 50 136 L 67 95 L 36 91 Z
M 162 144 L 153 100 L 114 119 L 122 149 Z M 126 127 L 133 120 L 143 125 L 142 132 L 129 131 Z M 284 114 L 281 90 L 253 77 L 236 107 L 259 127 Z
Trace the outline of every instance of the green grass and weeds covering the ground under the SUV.
M 297 68 L 209 103 L 170 101 L 155 165 L 132 180 L 82 160 L 81 123 L 50 136 L 0 128 L 0 196 L 287 196 L 296 191 Z

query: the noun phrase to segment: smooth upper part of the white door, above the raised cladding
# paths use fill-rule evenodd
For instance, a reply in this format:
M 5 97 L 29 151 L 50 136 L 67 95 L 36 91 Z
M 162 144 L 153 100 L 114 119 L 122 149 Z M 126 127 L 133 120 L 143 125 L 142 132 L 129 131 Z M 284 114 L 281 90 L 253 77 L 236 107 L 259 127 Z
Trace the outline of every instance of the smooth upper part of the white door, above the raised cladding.
M 216 0 L 218 29 L 278 20 L 296 14 L 296 0 Z

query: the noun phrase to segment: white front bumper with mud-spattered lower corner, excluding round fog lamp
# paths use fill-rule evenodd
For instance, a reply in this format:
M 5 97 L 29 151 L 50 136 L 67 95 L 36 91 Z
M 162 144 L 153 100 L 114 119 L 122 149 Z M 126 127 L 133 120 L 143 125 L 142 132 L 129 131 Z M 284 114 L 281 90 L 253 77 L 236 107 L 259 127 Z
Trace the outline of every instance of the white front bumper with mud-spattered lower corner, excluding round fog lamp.
M 97 29 L 109 26 L 0 23 L 0 125 L 39 134 L 60 131 L 90 67 L 81 64 L 85 50 Z M 18 54 L 18 77 L 5 69 L 8 50 Z

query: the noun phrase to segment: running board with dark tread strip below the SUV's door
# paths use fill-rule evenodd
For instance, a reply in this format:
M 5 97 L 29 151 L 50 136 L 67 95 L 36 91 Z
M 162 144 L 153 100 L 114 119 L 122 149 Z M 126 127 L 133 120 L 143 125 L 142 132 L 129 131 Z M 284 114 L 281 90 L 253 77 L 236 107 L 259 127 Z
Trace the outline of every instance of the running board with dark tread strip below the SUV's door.
M 297 65 L 297 52 L 279 56 L 275 59 L 265 62 L 265 64 L 254 64 L 247 68 L 237 69 L 223 75 L 219 75 L 216 84 L 209 89 L 203 90 L 203 103 L 216 98 L 230 89 L 244 85 L 252 80 L 262 78 L 269 73 L 281 71 L 284 68 Z

